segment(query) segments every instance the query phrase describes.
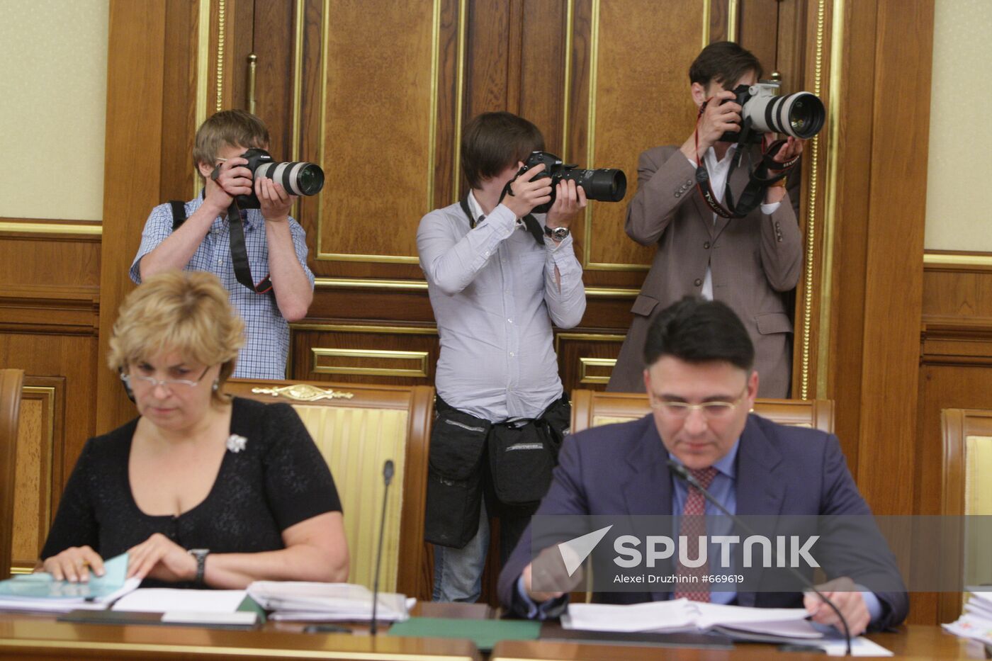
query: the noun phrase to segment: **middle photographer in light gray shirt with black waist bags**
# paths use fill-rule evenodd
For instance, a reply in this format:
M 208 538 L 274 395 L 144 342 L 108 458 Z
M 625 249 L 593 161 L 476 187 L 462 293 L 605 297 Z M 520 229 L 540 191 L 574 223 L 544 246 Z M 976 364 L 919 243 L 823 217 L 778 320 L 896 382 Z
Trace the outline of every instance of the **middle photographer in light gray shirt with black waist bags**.
M 489 516 L 500 519 L 505 560 L 568 431 L 552 323 L 571 328 L 585 312 L 568 227 L 586 199 L 573 181 L 553 191 L 544 165 L 518 176 L 543 149 L 526 119 L 475 117 L 461 141 L 471 191 L 424 216 L 417 232 L 440 336 L 426 525 L 435 600 L 478 599 Z M 553 198 L 547 215 L 531 214 Z

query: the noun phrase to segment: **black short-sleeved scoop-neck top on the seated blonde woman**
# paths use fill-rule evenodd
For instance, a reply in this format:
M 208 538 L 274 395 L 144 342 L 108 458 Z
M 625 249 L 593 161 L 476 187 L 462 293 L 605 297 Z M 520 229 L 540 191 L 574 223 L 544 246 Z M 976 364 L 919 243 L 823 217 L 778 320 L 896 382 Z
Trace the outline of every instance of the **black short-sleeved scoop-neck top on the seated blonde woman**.
M 228 446 L 206 498 L 179 516 L 149 516 L 134 501 L 128 459 L 138 419 L 87 441 L 42 558 L 83 545 L 112 558 L 157 532 L 185 549 L 276 551 L 286 528 L 340 511 L 330 470 L 293 407 L 239 398 L 232 406 L 231 434 L 247 439 L 244 449 Z

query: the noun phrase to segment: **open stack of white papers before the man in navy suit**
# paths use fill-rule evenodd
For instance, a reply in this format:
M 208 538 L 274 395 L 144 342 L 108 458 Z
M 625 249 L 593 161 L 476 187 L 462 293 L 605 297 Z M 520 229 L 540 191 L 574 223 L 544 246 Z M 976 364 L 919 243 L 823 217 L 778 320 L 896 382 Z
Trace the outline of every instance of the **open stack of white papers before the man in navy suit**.
M 566 629 L 681 633 L 714 631 L 735 640 L 798 643 L 818 647 L 831 656 L 844 654 L 843 637 L 824 633 L 806 619 L 806 608 L 752 608 L 672 599 L 631 605 L 572 603 L 561 618 Z M 892 656 L 892 652 L 868 640 L 851 640 L 854 656 Z

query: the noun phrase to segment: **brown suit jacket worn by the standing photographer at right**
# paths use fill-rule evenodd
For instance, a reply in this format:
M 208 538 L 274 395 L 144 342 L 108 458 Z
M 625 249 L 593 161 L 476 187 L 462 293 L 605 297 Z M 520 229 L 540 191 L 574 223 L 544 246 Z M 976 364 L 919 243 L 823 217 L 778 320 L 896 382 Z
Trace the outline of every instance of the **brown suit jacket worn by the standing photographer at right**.
M 755 163 L 759 157 L 755 155 Z M 739 196 L 747 184 L 747 159 L 730 180 Z M 620 348 L 607 390 L 643 392 L 644 341 L 651 320 L 685 295 L 699 295 L 708 264 L 713 298 L 726 303 L 754 341 L 760 397 L 786 397 L 792 376 L 792 322 L 782 292 L 799 282 L 803 236 L 796 219 L 799 177 L 771 215 L 759 206 L 744 218 L 717 217 L 695 189 L 695 167 L 678 147 L 641 154 L 637 194 L 627 207 L 627 234 L 643 245 L 658 245 L 634 321 Z

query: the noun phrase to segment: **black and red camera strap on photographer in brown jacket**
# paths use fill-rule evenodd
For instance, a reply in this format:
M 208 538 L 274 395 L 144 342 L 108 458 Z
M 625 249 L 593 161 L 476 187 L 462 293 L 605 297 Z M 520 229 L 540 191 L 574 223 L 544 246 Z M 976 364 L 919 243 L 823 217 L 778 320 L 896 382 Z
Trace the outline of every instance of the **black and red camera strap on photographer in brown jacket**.
M 702 164 L 701 159 L 699 158 L 699 120 L 702 118 L 702 113 L 705 111 L 707 103 L 709 103 L 709 99 L 703 101 L 702 105 L 699 106 L 699 114 L 696 115 L 696 189 L 698 189 L 699 195 L 702 196 L 702 199 L 706 202 L 706 205 L 709 206 L 709 208 L 716 215 L 721 218 L 743 218 L 746 217 L 748 213 L 758 208 L 758 205 L 761 204 L 761 200 L 764 198 L 765 191 L 768 187 L 778 181 L 781 181 L 793 171 L 793 168 L 795 168 L 796 164 L 799 162 L 800 157 L 795 156 L 786 163 L 779 163 L 775 160 L 775 154 L 782 148 L 782 145 L 786 144 L 786 141 L 776 140 L 770 144 L 762 153 L 761 164 L 748 174 L 747 186 L 745 186 L 744 190 L 741 192 L 741 197 L 736 203 L 734 203 L 733 193 L 730 191 L 730 179 L 734 174 L 734 170 L 740 164 L 741 157 L 750 138 L 751 122 L 749 119 L 746 119 L 740 132 L 740 139 L 737 142 L 737 153 L 732 157 L 732 161 L 730 162 L 730 170 L 727 172 L 727 183 L 723 192 L 723 199 L 726 203 L 721 204 L 713 194 L 713 189 L 709 184 L 709 173 L 706 171 L 706 166 Z

